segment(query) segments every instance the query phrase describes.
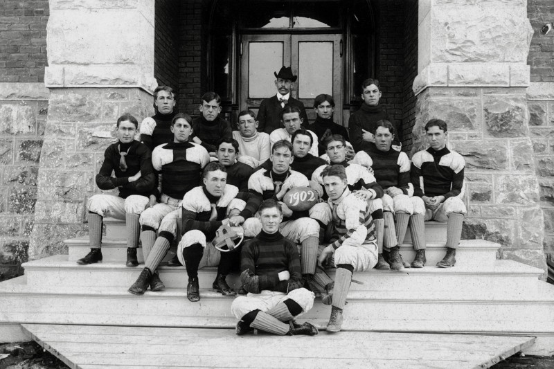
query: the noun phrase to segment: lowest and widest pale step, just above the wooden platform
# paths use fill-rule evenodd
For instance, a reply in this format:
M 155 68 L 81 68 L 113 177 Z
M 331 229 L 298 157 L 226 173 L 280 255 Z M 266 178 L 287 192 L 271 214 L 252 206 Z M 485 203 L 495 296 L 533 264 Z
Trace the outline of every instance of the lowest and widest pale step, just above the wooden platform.
M 233 298 L 202 289 L 190 303 L 186 289 L 134 296 L 121 287 L 43 287 L 25 277 L 0 284 L 0 323 L 144 326 L 211 326 L 231 318 Z M 554 334 L 554 286 L 539 280 L 535 291 L 357 291 L 348 294 L 345 330 Z M 303 318 L 328 319 L 330 307 L 316 300 Z M 233 323 L 234 324 L 234 323 Z

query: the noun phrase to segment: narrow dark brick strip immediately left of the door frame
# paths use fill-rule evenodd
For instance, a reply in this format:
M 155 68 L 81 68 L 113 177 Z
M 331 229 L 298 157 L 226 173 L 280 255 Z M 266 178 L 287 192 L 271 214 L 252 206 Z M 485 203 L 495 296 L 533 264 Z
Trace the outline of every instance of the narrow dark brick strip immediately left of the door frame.
M 179 109 L 197 114 L 201 89 L 202 0 L 181 2 L 179 21 Z

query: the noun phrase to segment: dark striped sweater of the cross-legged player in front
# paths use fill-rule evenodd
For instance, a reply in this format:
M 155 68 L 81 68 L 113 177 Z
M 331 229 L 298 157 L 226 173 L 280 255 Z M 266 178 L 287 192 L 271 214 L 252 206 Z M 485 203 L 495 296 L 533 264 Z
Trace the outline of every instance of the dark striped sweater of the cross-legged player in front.
M 242 246 L 241 271 L 257 276 L 258 288 L 249 291 L 259 294 L 262 290 L 286 294 L 301 287 L 302 269 L 296 245 L 279 232 L 261 231 Z M 279 280 L 278 273 L 289 271 L 289 280 Z

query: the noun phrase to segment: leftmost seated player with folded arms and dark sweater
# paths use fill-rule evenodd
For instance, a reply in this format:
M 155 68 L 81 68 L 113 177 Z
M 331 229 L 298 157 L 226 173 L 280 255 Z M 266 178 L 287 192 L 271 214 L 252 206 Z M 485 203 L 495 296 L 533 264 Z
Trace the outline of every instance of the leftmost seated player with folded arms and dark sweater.
M 104 152 L 104 162 L 96 185 L 100 190 L 118 188 L 119 195 L 93 195 L 87 201 L 89 210 L 89 237 L 91 251 L 77 264 L 92 264 L 102 261 L 102 219 L 106 215 L 125 219 L 127 225 L 127 267 L 136 267 L 136 246 L 139 244 L 139 216 L 148 205 L 148 195 L 155 186 L 154 168 L 150 149 L 135 141 L 139 123 L 131 114 L 123 114 L 117 120 L 118 142 L 109 145 Z M 114 172 L 115 177 L 111 177 Z

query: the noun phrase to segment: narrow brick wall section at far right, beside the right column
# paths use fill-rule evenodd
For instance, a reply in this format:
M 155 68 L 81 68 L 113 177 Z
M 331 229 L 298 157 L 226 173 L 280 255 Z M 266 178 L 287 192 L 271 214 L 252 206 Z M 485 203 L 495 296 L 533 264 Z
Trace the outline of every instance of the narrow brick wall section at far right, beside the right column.
M 554 21 L 554 1 L 528 0 L 527 16 L 535 30 L 527 59 L 531 82 L 554 82 L 554 30 L 540 33 L 542 26 Z

